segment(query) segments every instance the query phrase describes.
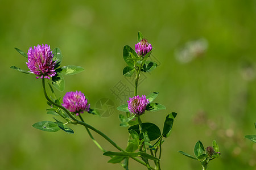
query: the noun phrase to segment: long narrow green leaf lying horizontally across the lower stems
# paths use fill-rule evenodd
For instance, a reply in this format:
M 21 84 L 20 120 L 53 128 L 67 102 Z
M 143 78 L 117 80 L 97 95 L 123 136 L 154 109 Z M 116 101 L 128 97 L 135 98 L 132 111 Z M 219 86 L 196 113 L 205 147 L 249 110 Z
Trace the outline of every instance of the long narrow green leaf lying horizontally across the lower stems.
M 152 155 L 149 155 L 149 154 L 146 154 L 145 152 L 137 152 L 137 153 L 130 153 L 130 152 L 104 152 L 105 156 L 129 156 L 129 157 L 137 157 L 137 156 L 140 156 L 140 157 L 143 157 L 143 158 L 146 158 L 146 159 L 152 159 L 152 160 L 159 160 L 158 158 L 155 158 L 155 156 L 152 156 Z

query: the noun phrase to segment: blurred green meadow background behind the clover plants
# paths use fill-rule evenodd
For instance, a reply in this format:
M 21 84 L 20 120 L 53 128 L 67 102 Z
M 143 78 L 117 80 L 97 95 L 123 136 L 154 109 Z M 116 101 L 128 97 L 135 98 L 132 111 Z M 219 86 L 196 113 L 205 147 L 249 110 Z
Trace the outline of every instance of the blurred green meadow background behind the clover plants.
M 138 94 L 159 91 L 157 101 L 167 110 L 149 112 L 144 122 L 163 128 L 166 115 L 177 112 L 174 127 L 163 143 L 162 169 L 200 169 L 199 162 L 177 151 L 193 154 L 200 140 L 204 146 L 215 139 L 220 158 L 208 169 L 256 169 L 256 145 L 243 138 L 255 134 L 256 122 L 256 1 L 0 1 L 1 95 L 0 169 L 123 169 L 107 163 L 109 158 L 89 139 L 81 126 L 47 133 L 32 124 L 53 120 L 46 114 L 41 81 L 34 75 L 11 70 L 27 69 L 30 46 L 49 44 L 63 53 L 63 65 L 79 65 L 85 71 L 65 76 L 64 92 L 79 90 L 92 107 L 112 94 L 122 81 L 126 63 L 124 45 L 134 47 L 137 33 L 154 46 L 159 67 L 141 82 Z M 191 40 L 204 38 L 208 48 L 201 57 L 180 62 L 176 52 Z M 186 47 L 185 47 L 186 48 Z M 176 56 L 176 57 L 175 57 Z M 179 56 L 178 56 L 179 57 Z M 118 145 L 126 147 L 127 128 L 119 127 L 118 114 L 84 119 Z M 117 151 L 97 134 L 108 151 Z M 130 169 L 146 169 L 130 160 Z

